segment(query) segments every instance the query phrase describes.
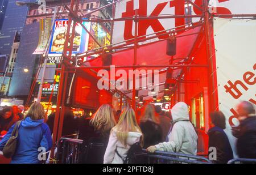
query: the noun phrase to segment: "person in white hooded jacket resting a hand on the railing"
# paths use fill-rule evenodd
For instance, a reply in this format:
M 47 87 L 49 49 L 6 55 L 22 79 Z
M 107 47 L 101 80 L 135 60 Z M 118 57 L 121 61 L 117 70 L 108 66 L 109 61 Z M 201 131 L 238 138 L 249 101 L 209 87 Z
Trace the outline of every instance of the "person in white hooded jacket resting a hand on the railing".
M 183 102 L 177 103 L 172 107 L 171 114 L 174 126 L 168 135 L 168 142 L 150 146 L 147 151 L 153 153 L 158 150 L 196 155 L 197 134 L 189 121 L 188 105 Z

